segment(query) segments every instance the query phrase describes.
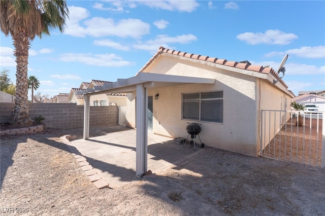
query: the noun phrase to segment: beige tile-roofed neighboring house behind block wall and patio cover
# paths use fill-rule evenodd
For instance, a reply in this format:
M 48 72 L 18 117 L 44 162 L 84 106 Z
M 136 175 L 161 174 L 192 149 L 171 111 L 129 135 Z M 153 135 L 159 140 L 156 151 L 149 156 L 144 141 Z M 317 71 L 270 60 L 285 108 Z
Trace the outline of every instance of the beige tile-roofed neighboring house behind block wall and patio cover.
M 69 101 L 72 103 L 77 103 L 77 105 L 84 105 L 84 96 L 77 94 L 78 91 L 87 88 L 101 87 L 105 83 L 112 83 L 108 81 L 101 80 L 91 80 L 90 83 L 82 82 L 79 88 L 72 88 L 68 96 Z M 90 106 L 108 106 L 108 105 L 126 105 L 126 94 L 121 93 L 109 93 L 109 94 L 99 94 L 92 96 L 90 98 Z

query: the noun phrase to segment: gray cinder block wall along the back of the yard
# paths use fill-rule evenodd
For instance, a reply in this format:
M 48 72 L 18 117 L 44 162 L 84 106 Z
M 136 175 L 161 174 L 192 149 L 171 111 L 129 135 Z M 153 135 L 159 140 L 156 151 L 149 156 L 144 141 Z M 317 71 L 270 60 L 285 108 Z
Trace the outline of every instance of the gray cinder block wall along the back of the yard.
M 11 119 L 13 103 L 0 103 L 1 123 Z M 29 117 L 42 115 L 48 128 L 78 128 L 83 127 L 84 106 L 76 103 L 28 103 Z M 90 106 L 90 126 L 118 125 L 118 106 Z

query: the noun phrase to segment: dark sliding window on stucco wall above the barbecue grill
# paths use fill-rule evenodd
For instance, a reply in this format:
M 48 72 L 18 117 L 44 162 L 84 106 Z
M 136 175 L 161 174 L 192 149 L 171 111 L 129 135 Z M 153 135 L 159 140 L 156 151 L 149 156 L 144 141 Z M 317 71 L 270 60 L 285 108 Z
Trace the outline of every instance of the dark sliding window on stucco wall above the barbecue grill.
M 223 122 L 223 92 L 183 94 L 183 119 Z

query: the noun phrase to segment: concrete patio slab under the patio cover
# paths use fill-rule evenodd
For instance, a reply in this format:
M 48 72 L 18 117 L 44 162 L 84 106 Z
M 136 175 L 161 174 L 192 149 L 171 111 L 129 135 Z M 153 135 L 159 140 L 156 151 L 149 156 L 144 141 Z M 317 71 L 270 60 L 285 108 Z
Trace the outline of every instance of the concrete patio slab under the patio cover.
M 111 188 L 138 179 L 136 177 L 136 129 L 108 133 L 87 140 L 73 140 L 71 144 Z M 190 143 L 183 148 L 183 145 L 175 143 L 170 137 L 148 131 L 148 170 L 159 174 L 167 167 L 203 150 L 200 145 L 197 145 L 194 151 Z

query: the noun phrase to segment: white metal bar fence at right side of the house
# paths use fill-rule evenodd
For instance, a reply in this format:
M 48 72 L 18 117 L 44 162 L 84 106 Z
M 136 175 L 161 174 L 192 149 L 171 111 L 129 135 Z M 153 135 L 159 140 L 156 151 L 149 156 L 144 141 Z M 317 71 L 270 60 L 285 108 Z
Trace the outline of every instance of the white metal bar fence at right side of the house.
M 324 115 L 262 110 L 260 155 L 324 168 Z

